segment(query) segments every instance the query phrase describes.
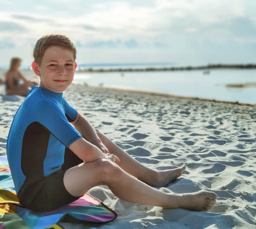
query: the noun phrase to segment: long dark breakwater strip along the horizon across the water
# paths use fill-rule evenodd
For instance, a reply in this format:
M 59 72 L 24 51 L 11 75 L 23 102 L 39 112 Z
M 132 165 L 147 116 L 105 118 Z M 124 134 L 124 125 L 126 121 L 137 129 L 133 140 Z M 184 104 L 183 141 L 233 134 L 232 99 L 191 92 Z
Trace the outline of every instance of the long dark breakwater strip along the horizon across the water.
M 78 67 L 79 68 L 79 67 Z M 209 64 L 206 66 L 187 67 L 119 67 L 119 68 L 86 68 L 78 69 L 77 72 L 156 72 L 156 71 L 191 71 L 191 70 L 214 70 L 214 69 L 256 69 L 256 64 Z M 205 74 L 209 74 L 206 71 Z

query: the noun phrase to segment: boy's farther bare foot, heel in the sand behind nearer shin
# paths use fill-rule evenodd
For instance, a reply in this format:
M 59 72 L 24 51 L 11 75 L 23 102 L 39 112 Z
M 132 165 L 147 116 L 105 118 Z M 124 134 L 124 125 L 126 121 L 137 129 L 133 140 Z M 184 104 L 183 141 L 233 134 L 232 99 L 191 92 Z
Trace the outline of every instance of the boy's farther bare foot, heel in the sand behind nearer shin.
M 185 169 L 186 165 L 182 165 L 179 168 L 157 171 L 155 177 L 143 180 L 143 182 L 155 188 L 167 187 L 171 182 L 180 177 L 185 171 Z

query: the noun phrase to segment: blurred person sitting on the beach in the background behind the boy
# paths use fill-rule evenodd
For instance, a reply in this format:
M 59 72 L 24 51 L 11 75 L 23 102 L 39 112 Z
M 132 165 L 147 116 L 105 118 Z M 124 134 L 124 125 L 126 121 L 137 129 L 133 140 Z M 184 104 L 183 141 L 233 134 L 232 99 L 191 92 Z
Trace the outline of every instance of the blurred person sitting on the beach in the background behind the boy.
M 10 68 L 6 72 L 6 95 L 26 96 L 29 87 L 38 86 L 38 83 L 27 80 L 19 71 L 21 59 L 14 57 L 11 60 Z M 21 83 L 23 81 L 23 84 Z

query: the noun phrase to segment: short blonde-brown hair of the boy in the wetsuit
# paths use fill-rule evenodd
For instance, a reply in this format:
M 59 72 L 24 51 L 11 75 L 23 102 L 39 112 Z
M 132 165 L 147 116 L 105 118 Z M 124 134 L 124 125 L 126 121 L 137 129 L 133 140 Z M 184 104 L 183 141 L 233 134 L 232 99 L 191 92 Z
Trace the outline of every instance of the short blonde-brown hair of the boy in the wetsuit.
M 41 64 L 44 52 L 50 46 L 58 46 L 73 51 L 74 61 L 76 61 L 76 46 L 74 43 L 65 35 L 49 34 L 41 37 L 35 44 L 33 56 L 36 63 Z

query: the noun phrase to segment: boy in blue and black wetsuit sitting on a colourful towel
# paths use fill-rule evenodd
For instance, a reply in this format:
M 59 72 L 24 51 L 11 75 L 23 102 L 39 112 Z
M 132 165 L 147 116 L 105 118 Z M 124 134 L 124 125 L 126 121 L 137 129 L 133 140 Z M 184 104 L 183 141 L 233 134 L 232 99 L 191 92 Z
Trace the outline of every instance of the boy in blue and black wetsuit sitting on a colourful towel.
M 215 205 L 213 192 L 167 194 L 153 188 L 167 186 L 186 166 L 166 171 L 145 167 L 69 106 L 62 97 L 76 69 L 76 47 L 69 38 L 46 35 L 35 44 L 33 55 L 40 84 L 17 110 L 7 140 L 9 166 L 23 206 L 51 211 L 99 185 L 132 203 L 196 211 Z

